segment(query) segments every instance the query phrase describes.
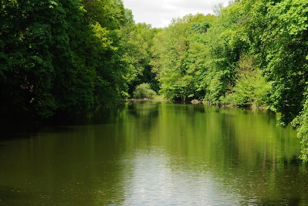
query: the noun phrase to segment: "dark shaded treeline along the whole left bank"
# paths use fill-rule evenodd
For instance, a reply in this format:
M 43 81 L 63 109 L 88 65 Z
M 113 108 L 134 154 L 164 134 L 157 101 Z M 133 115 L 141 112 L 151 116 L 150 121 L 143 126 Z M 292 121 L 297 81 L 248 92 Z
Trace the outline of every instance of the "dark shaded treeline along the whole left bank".
M 148 60 L 122 0 L 0 2 L 2 122 L 119 101 Z

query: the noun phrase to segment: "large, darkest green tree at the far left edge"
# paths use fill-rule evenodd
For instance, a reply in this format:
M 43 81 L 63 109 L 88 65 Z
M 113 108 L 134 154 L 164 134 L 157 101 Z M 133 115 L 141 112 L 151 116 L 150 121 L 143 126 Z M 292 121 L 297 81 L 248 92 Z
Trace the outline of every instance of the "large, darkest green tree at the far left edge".
M 78 9 L 75 1 L 1 1 L 3 105 L 39 117 L 61 107 L 55 95 L 56 75 L 73 61 L 67 30 L 75 15 L 66 13 Z

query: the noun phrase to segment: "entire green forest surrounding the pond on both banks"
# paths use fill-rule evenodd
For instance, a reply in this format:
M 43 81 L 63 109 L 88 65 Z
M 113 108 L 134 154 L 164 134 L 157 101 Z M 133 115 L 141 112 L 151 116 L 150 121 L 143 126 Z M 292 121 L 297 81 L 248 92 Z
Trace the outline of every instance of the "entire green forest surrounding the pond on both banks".
M 281 113 L 308 160 L 308 1 L 234 0 L 166 28 L 122 0 L 1 0 L 0 122 L 159 95 Z

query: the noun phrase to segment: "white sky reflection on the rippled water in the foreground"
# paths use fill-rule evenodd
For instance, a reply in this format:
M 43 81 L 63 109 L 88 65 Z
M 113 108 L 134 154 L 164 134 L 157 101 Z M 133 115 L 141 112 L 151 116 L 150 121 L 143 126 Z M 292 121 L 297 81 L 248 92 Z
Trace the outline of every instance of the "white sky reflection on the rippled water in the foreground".
M 131 163 L 123 205 L 239 205 L 243 199 L 205 164 L 195 167 L 159 148 L 136 151 Z

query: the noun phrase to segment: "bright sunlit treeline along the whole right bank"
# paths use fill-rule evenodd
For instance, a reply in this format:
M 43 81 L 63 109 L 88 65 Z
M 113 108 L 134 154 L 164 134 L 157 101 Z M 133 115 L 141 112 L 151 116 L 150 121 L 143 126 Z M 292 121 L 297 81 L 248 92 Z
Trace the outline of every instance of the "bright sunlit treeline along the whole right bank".
M 150 64 L 170 99 L 267 106 L 298 129 L 308 160 L 308 1 L 236 0 L 174 19 Z

